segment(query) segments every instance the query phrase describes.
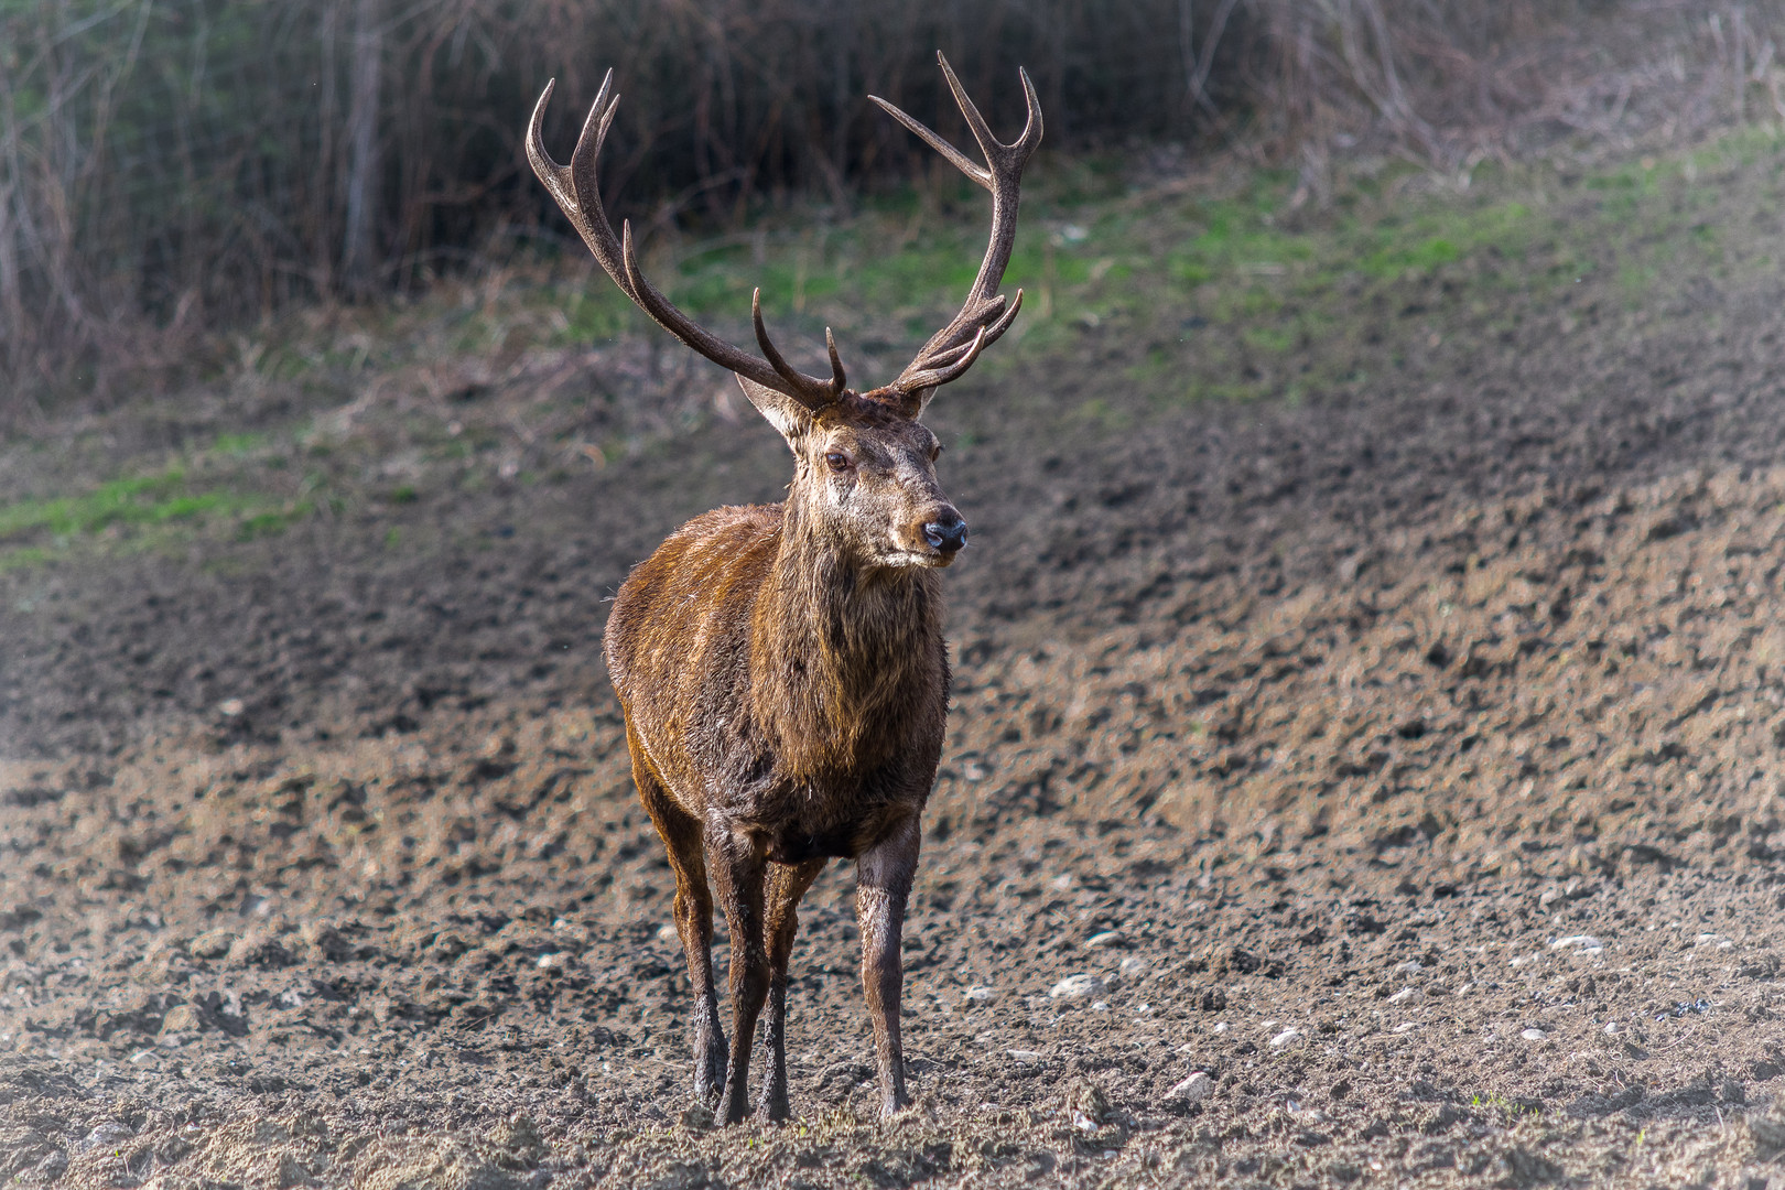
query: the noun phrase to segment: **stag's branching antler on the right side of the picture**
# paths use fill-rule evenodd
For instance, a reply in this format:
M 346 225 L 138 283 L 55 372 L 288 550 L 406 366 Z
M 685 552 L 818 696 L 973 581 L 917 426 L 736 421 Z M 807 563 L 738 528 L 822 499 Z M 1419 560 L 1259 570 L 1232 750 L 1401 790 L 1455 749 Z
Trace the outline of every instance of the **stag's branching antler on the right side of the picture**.
M 980 116 L 980 109 L 973 105 L 973 100 L 960 87 L 960 80 L 955 79 L 948 59 L 937 52 L 935 61 L 941 62 L 942 75 L 948 79 L 948 89 L 955 93 L 955 103 L 960 105 L 960 114 L 966 116 L 967 128 L 973 130 L 973 139 L 980 143 L 980 152 L 985 153 L 989 168 L 976 166 L 971 157 L 880 96 L 868 96 L 885 109 L 889 116 L 916 132 L 925 145 L 953 162 L 957 169 L 992 193 L 991 243 L 985 248 L 985 262 L 980 264 L 980 275 L 973 278 L 973 287 L 967 289 L 966 303 L 951 323 L 923 344 L 917 359 L 905 366 L 898 380 L 887 385 L 907 398 L 916 398 L 919 407 L 928 401 L 926 389 L 934 391 L 973 368 L 973 360 L 980 357 L 980 351 L 996 343 L 998 335 L 1016 321 L 1016 312 L 1023 309 L 1021 289 L 1016 291 L 1016 302 L 1009 303 L 1010 309 L 1005 309 L 1005 298 L 998 293 L 998 282 L 1003 280 L 1005 266 L 1010 264 L 1010 248 L 1016 244 L 1016 207 L 1023 166 L 1028 164 L 1035 146 L 1041 145 L 1041 103 L 1035 98 L 1035 84 L 1028 80 L 1028 71 L 1017 71 L 1023 79 L 1023 96 L 1028 102 L 1028 123 L 1023 125 L 1023 136 L 1016 143 L 1003 145 L 992 136 L 985 118 Z

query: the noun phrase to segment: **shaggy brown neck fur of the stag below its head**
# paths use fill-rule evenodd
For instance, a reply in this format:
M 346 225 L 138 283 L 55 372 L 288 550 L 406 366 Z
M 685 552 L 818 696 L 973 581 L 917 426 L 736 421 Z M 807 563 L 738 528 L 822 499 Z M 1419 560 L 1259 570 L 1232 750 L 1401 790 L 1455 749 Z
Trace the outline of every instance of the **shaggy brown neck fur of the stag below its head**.
M 946 683 L 939 574 L 862 562 L 814 521 L 787 501 L 751 626 L 759 721 L 807 771 L 871 764 Z

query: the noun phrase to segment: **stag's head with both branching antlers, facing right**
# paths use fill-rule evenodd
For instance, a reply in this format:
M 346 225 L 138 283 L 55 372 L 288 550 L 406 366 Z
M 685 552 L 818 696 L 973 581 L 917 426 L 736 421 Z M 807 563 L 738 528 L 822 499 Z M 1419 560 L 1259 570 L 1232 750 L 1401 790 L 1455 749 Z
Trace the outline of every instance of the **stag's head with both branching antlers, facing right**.
M 1016 243 L 1023 166 L 1041 143 L 1035 87 L 1028 73 L 1021 73 L 1028 121 L 1016 143 L 1003 145 L 962 91 L 948 61 L 941 54 L 935 57 L 973 139 L 985 153 L 985 166 L 975 164 L 898 107 L 869 98 L 992 193 L 991 243 L 960 312 L 930 337 L 898 378 L 868 393 L 848 387 L 837 343 L 828 328 L 825 344 L 830 350 L 830 376 L 809 376 L 793 368 L 762 323 L 760 289 L 750 303 L 760 350 L 757 355 L 698 326 L 646 280 L 634 250 L 632 223 L 621 223 L 616 237 L 602 209 L 596 162 L 619 103 L 619 96 L 612 95 L 614 71 L 607 71 L 602 80 L 569 166 L 552 161 L 539 139 L 553 84 L 546 84 L 527 128 L 527 159 L 534 173 L 621 293 L 677 339 L 735 373 L 750 403 L 787 441 L 796 459 L 787 500 L 789 526 L 823 535 L 862 566 L 948 566 L 966 544 L 966 521 L 935 478 L 941 442 L 921 417 L 935 391 L 973 368 L 980 351 L 1010 328 L 1023 307 L 1021 289 L 1014 302 L 1007 302 L 998 293 L 998 284 Z

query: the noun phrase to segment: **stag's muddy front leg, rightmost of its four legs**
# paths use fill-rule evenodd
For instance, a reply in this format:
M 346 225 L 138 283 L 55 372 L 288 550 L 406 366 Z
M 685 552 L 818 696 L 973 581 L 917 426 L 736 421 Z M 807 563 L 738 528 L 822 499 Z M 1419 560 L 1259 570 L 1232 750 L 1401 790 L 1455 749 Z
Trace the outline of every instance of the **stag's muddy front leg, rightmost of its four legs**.
M 910 1103 L 905 1097 L 905 1049 L 898 1022 L 905 987 L 900 942 L 919 842 L 921 828 L 912 814 L 857 860 L 855 922 L 862 933 L 862 990 L 868 994 L 868 1015 L 875 1022 L 882 1117 L 891 1117 Z

